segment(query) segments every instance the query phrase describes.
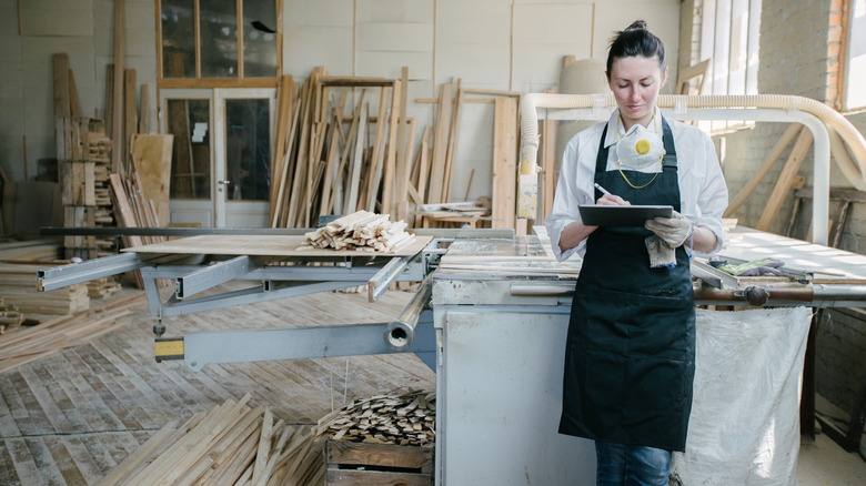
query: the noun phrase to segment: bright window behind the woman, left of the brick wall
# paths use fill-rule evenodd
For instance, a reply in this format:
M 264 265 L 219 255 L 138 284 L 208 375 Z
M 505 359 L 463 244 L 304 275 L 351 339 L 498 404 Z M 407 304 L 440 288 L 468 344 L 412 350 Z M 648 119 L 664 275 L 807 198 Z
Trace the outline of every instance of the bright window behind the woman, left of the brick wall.
M 695 21 L 701 26 L 697 58 L 711 60 L 701 94 L 757 94 L 761 0 L 704 0 Z M 719 120 L 705 128 L 717 133 L 753 125 Z

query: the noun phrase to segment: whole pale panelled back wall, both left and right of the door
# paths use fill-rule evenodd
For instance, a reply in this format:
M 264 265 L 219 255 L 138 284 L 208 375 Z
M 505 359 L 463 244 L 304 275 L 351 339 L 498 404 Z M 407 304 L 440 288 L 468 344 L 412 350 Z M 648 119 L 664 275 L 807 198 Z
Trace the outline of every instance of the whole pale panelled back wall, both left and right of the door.
M 148 83 L 155 120 L 155 1 L 125 0 L 124 67 Z M 112 62 L 113 0 L 0 0 L 0 166 L 12 180 L 54 156 L 51 55 L 67 52 L 81 113 L 104 117 L 105 64 Z M 295 80 L 323 65 L 332 75 L 400 78 L 409 67 L 409 115 L 416 136 L 432 124 L 443 82 L 464 88 L 538 92 L 558 83 L 563 55 L 606 58 L 615 30 L 635 19 L 666 44 L 676 65 L 678 0 L 283 0 L 283 71 Z M 673 81 L 673 79 L 672 79 Z M 375 101 L 379 93 L 371 91 Z M 493 105 L 466 103 L 451 193 L 490 195 Z

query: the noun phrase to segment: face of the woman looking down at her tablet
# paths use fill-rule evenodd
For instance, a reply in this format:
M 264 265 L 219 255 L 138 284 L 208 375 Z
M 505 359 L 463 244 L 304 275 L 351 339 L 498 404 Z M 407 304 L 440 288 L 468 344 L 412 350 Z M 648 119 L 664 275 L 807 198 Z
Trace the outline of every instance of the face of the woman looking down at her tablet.
M 667 68 L 662 71 L 658 57 L 616 58 L 607 74 L 625 130 L 635 123 L 646 126 L 653 119 L 658 90 L 667 81 Z

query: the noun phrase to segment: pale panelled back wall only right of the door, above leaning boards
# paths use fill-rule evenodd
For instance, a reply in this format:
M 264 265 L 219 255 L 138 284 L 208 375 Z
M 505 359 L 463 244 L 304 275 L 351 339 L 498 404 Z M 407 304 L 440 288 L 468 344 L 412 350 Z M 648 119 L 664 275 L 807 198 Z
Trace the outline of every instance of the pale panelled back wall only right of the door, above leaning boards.
M 606 59 L 614 31 L 636 19 L 647 21 L 665 42 L 668 65 L 677 65 L 677 0 L 284 0 L 283 4 L 286 73 L 304 79 L 323 65 L 332 75 L 400 78 L 406 65 L 409 115 L 416 119 L 419 139 L 423 126 L 433 123 L 433 109 L 413 100 L 436 98 L 442 83 L 461 79 L 464 88 L 545 91 L 558 83 L 564 55 Z M 460 129 L 452 199 L 466 195 L 473 169 L 470 199 L 490 195 L 493 105 L 465 103 Z

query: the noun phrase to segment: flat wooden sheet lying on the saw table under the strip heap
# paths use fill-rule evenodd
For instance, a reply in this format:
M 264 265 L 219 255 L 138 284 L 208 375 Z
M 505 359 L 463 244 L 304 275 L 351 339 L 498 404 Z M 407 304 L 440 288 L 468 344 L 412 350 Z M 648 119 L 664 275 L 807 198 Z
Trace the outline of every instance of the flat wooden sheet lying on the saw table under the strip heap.
M 412 241 L 396 252 L 365 252 L 361 250 L 331 250 L 305 246 L 303 235 L 200 235 L 164 243 L 123 249 L 135 253 L 191 253 L 210 255 L 262 255 L 262 256 L 411 256 L 415 255 L 433 236 L 413 236 Z

